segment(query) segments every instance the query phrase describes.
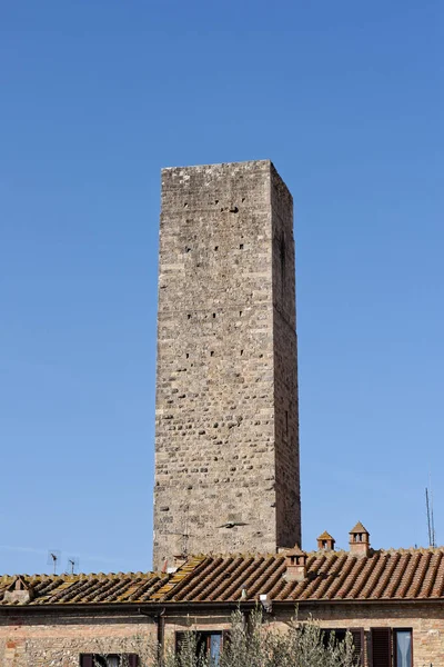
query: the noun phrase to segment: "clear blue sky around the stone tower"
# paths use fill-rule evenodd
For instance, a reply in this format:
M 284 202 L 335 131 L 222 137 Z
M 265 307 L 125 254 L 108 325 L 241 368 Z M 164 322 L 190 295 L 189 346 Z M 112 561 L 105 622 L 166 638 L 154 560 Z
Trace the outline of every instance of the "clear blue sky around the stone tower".
M 151 566 L 160 169 L 296 210 L 303 546 L 444 541 L 441 0 L 0 0 L 0 573 Z

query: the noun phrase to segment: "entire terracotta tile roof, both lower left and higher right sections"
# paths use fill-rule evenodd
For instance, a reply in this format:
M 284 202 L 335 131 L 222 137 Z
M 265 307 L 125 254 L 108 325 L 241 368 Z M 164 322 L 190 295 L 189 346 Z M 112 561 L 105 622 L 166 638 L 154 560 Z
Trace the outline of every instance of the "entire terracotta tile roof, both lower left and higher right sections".
M 287 581 L 285 556 L 223 555 L 190 558 L 172 575 L 118 573 L 104 575 L 21 575 L 32 591 L 29 601 L 13 601 L 8 591 L 18 577 L 0 577 L 0 608 L 11 605 L 107 605 L 169 603 L 275 601 L 444 601 L 444 547 L 307 554 L 306 577 Z

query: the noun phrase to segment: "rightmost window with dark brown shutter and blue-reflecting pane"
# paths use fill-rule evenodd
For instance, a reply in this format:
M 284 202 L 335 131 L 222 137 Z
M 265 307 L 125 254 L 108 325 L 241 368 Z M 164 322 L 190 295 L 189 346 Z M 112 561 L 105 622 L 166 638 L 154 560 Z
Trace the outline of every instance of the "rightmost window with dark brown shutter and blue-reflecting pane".
M 410 628 L 372 628 L 372 667 L 413 667 Z

